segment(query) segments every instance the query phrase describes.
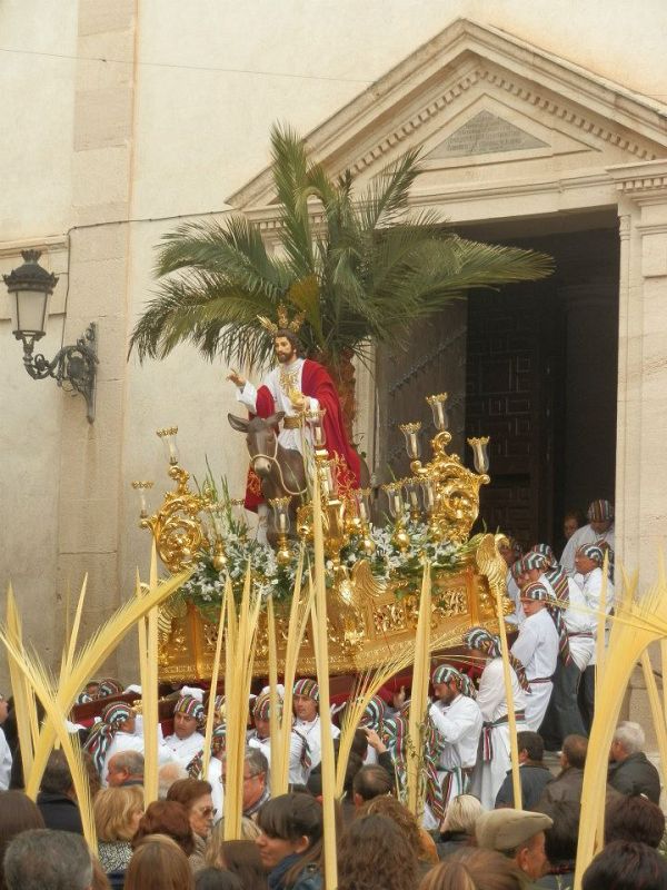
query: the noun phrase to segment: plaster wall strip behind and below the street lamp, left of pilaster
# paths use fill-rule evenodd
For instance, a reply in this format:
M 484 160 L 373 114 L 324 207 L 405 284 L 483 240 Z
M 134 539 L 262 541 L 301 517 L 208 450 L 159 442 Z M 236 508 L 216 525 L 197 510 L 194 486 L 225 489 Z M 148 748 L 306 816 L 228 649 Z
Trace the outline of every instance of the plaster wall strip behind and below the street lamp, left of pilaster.
M 0 275 L 22 263 L 0 257 Z M 51 299 L 48 333 L 36 347 L 51 358 L 60 348 L 67 290 L 67 254 L 58 251 L 43 265 L 60 277 Z M 23 615 L 24 639 L 34 642 L 47 662 L 53 654 L 57 587 L 60 428 L 63 394 L 54 380 L 33 380 L 23 370 L 22 346 L 11 333 L 9 296 L 0 290 L 0 612 L 11 582 Z M 74 580 L 72 587 L 80 585 Z M 8 672 L 0 653 L 0 691 Z

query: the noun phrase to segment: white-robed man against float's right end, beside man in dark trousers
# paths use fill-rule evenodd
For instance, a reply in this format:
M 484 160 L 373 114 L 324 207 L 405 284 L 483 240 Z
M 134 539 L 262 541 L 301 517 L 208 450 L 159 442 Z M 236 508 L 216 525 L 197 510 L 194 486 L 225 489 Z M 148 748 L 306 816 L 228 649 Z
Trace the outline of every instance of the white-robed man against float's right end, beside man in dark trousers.
M 556 623 L 559 610 L 552 616 L 547 605 L 557 606 L 552 591 L 539 581 L 521 587 L 521 605 L 526 620 L 519 627 L 511 654 L 526 671 L 530 695 L 526 701 L 526 729 L 537 732 L 549 706 L 560 647 Z M 567 645 L 567 637 L 565 640 Z

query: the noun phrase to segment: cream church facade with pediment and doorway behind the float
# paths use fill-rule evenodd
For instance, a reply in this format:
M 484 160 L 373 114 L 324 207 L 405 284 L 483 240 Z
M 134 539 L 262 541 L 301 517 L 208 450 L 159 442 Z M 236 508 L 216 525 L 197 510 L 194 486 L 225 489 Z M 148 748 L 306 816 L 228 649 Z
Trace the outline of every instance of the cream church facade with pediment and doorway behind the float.
M 89 573 L 96 626 L 131 594 L 136 566 L 147 574 L 131 482 L 155 479 L 153 507 L 170 487 L 156 428 L 178 425 L 182 465 L 201 476 L 208 457 L 232 495 L 241 491 L 227 368 L 185 347 L 139 366 L 127 344 L 165 233 L 236 210 L 277 243 L 267 168 L 277 119 L 361 185 L 419 147 L 416 208 L 470 237 L 546 249 L 565 270 L 541 290 L 504 296 L 504 310 L 452 307 L 426 349 L 379 354 L 377 377 L 359 374 L 366 451 L 390 461 L 390 427 L 415 419 L 396 416 L 387 392 L 408 393 L 410 405 L 436 379 L 461 444 L 474 432 L 504 443 L 492 452 L 490 521 L 548 534 L 577 496 L 577 506 L 613 497 L 617 560 L 653 580 L 667 488 L 667 62 L 651 38 L 667 23 L 663 4 L 611 4 L 616 18 L 598 0 L 576 12 L 519 0 L 492 11 L 465 0 L 362 12 L 202 3 L 199 17 L 155 0 L 70 0 L 58 16 L 28 6 L 40 18 L 30 33 L 11 6 L 0 11 L 16 50 L 1 271 L 20 265 L 21 249 L 42 250 L 59 276 L 43 352 L 96 322 L 100 357 L 89 425 L 80 398 L 22 370 L 0 294 L 0 577 L 12 578 L 47 654 L 60 649 L 68 586 L 77 592 Z M 499 313 L 496 333 L 508 317 L 534 316 L 534 326 L 484 352 L 488 309 Z

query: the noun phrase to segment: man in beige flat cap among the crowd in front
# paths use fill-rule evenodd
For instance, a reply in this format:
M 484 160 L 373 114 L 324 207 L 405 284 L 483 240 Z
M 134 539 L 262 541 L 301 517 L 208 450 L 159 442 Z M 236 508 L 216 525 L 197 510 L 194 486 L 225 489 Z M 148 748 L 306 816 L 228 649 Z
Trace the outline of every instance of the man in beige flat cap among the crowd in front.
M 545 830 L 552 824 L 544 813 L 507 808 L 482 813 L 475 835 L 478 847 L 512 859 L 531 881 L 537 881 L 546 873 Z

